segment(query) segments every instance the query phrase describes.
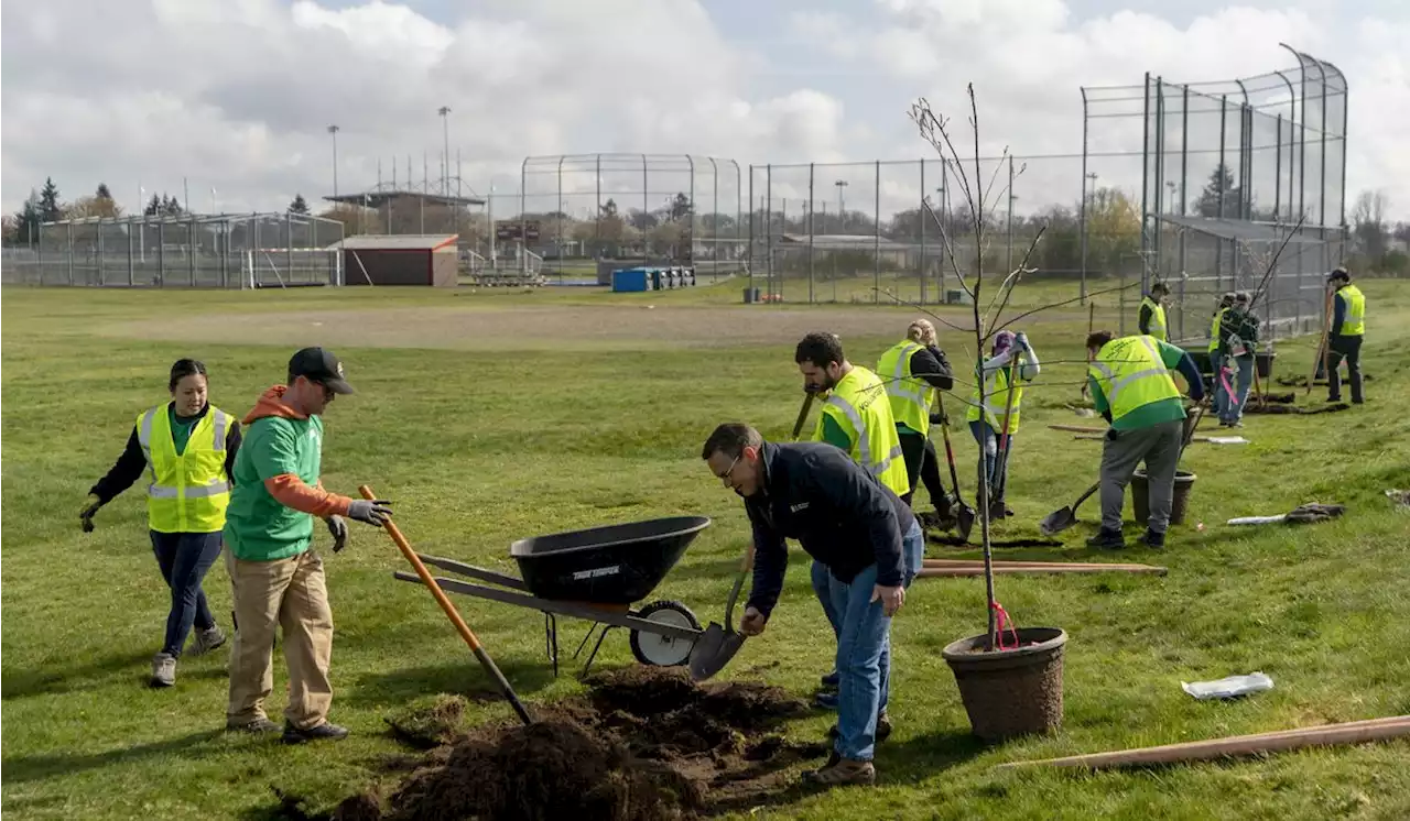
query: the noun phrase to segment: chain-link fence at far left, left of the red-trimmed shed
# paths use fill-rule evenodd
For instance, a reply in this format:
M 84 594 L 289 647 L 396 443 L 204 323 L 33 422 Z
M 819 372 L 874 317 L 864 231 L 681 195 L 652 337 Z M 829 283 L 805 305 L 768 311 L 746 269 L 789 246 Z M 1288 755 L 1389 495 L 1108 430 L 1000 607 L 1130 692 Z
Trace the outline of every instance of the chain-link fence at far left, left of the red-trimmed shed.
M 288 287 L 341 284 L 343 223 L 303 214 L 87 218 L 45 223 L 0 259 L 23 284 Z

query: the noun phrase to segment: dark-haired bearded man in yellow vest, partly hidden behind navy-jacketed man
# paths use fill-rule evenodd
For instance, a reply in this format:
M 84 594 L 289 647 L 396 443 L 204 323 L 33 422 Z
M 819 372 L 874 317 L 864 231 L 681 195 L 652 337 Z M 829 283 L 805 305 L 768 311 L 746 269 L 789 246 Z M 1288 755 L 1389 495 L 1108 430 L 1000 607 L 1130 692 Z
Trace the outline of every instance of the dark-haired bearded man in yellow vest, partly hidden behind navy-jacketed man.
M 901 437 L 895 432 L 895 418 L 881 379 L 866 368 L 847 362 L 842 339 L 836 334 L 808 334 L 798 342 L 794 362 L 802 373 L 804 390 L 825 396 L 812 439 L 845 451 L 897 497 L 908 493 L 911 477 L 905 472 L 905 452 L 901 451 Z M 924 560 L 921 553 L 925 542 L 922 539 L 916 544 L 919 549 L 905 556 L 912 572 L 919 572 Z M 832 583 L 828 566 L 814 560 L 812 590 L 836 637 L 842 618 L 832 604 Z M 830 690 L 838 686 L 838 672 L 823 676 L 822 684 L 829 691 L 819 697 L 819 704 L 836 706 Z

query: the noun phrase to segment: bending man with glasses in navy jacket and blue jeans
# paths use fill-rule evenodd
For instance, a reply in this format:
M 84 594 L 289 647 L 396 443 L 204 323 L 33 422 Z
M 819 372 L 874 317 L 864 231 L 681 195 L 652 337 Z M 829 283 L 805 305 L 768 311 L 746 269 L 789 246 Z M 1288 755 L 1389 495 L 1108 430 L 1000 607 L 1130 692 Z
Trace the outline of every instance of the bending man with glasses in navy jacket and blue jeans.
M 885 720 L 891 617 L 921 569 L 924 535 L 909 506 L 822 442 L 776 445 L 744 424 L 723 424 L 701 452 L 716 479 L 744 499 L 754 582 L 740 621 L 760 635 L 783 591 L 785 538 L 828 568 L 838 629 L 838 728 L 833 756 L 808 777 L 870 784 L 877 728 Z

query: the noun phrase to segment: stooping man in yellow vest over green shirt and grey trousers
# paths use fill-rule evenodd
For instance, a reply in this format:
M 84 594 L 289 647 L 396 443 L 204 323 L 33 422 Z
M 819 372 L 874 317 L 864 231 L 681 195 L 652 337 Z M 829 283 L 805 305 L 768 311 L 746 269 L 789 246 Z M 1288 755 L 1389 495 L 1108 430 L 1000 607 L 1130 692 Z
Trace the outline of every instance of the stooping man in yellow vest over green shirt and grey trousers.
M 1087 355 L 1093 406 L 1111 424 L 1101 449 L 1101 529 L 1087 545 L 1127 546 L 1121 508 L 1131 476 L 1145 462 L 1151 518 L 1139 541 L 1163 548 L 1186 418 L 1170 372 L 1179 370 L 1190 399 L 1203 401 L 1200 369 L 1180 348 L 1148 335 L 1112 339 L 1111 331 L 1097 331 L 1087 337 Z

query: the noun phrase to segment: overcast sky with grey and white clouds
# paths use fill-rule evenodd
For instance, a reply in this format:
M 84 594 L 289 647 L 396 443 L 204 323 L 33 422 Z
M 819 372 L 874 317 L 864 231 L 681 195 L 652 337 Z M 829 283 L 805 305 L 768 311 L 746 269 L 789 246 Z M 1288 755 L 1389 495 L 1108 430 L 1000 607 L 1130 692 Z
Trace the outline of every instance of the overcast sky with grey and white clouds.
M 65 199 L 106 182 L 125 207 L 140 186 L 182 196 L 183 177 L 199 211 L 282 210 L 295 193 L 317 207 L 333 187 L 329 124 L 341 128 L 343 193 L 372 186 L 379 159 L 391 179 L 393 156 L 402 180 L 407 155 L 422 176 L 423 152 L 439 177 L 440 106 L 451 108 L 450 152 L 481 193 L 517 190 L 526 155 L 709 155 L 744 166 L 746 192 L 749 163 L 912 161 L 883 169 L 885 213 L 915 201 L 915 161 L 935 156 L 907 118 L 919 96 L 969 141 L 963 93 L 974 83 L 981 153 L 1079 155 L 1080 86 L 1293 68 L 1285 41 L 1348 77 L 1351 196 L 1385 189 L 1392 213 L 1410 215 L 1403 0 L 0 0 L 0 18 L 6 213 L 45 176 Z M 1127 106 L 1136 114 L 1141 101 Z M 1103 151 L 1141 149 L 1139 117 L 1091 130 Z M 1191 123 L 1190 139 L 1217 148 L 1217 118 Z M 1211 156 L 1191 162 L 1190 197 Z M 1255 176 L 1270 180 L 1273 155 L 1261 156 Z M 1320 179 L 1310 165 L 1308 180 Z M 592 175 L 568 169 L 564 206 L 585 211 Z M 732 210 L 730 169 L 718 173 L 721 210 Z M 1138 158 L 1090 170 L 1100 184 L 1139 186 Z M 821 201 L 835 203 L 846 179 L 847 208 L 874 208 L 874 166 L 815 173 Z M 926 175 L 933 190 L 936 172 Z M 646 204 L 688 184 L 667 176 Z M 623 180 L 608 190 L 630 189 Z M 776 207 L 791 197 L 783 207 L 798 208 L 807 180 L 807 169 L 777 169 Z M 697 172 L 702 210 L 713 184 L 713 172 Z M 756 196 L 767 184 L 760 170 Z M 1077 159 L 1034 159 L 1017 207 L 1076 201 L 1080 184 Z M 553 207 L 543 200 L 557 199 L 556 175 L 530 189 L 543 194 L 530 208 Z M 1272 204 L 1272 182 L 1256 196 Z

